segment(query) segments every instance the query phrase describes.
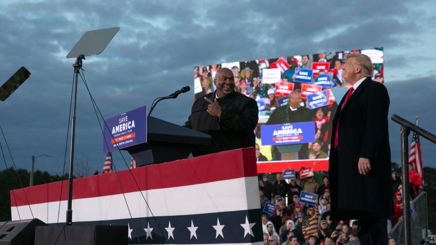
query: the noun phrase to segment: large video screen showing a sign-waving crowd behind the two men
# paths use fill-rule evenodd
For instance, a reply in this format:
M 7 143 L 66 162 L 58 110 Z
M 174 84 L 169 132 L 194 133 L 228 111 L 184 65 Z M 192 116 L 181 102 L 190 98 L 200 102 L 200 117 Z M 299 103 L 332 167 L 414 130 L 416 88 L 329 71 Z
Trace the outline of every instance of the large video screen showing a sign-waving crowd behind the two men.
M 328 159 L 331 120 L 342 99 L 333 94 L 351 87 L 342 68 L 353 53 L 368 55 L 372 79 L 384 83 L 383 48 L 355 49 L 197 66 L 195 99 L 212 93 L 216 71 L 229 68 L 236 92 L 255 99 L 259 107 L 257 161 Z

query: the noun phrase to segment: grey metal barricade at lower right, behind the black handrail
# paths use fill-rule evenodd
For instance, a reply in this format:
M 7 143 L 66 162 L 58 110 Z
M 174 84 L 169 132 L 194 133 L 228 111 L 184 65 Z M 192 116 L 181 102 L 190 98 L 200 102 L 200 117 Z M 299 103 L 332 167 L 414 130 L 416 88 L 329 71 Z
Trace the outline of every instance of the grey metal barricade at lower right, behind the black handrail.
M 415 199 L 410 202 L 410 208 L 412 210 L 410 216 L 411 244 L 420 244 L 421 240 L 428 237 L 427 193 L 423 191 L 415 197 Z M 392 237 L 397 244 L 404 244 L 402 242 L 404 238 L 403 221 L 404 219 L 399 220 L 389 233 L 389 236 Z

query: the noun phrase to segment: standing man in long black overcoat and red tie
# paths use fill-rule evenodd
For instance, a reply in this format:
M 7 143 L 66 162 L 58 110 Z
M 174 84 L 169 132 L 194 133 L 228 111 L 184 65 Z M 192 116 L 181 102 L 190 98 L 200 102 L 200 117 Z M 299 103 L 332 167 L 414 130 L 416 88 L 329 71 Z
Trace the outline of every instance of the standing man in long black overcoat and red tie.
M 371 80 L 371 59 L 350 54 L 342 72 L 352 85 L 332 121 L 330 218 L 358 219 L 361 244 L 387 244 L 393 215 L 388 136 L 389 95 Z

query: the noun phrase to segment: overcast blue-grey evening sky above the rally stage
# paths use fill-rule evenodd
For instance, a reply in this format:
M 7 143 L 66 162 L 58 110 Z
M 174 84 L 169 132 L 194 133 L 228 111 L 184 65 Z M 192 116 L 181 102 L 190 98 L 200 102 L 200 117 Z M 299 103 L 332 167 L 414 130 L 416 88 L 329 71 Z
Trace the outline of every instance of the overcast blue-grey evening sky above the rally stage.
M 104 118 L 193 88 L 197 65 L 384 47 L 390 115 L 409 121 L 417 115 L 435 134 L 435 9 L 431 0 L 2 1 L 0 84 L 22 66 L 32 76 L 0 101 L 0 125 L 17 168 L 30 170 L 32 155 L 50 154 L 37 158 L 35 168 L 61 174 L 75 61 L 65 56 L 86 31 L 117 26 L 103 53 L 83 65 Z M 182 125 L 193 97 L 191 90 L 164 100 L 153 115 Z M 400 162 L 400 126 L 390 121 L 389 127 L 392 161 Z M 92 172 L 103 168 L 102 141 L 79 81 L 75 158 L 88 156 Z M 3 136 L 0 142 L 9 167 Z M 422 137 L 421 146 L 424 166 L 436 168 L 436 146 Z M 126 169 L 115 155 L 117 169 Z M 130 155 L 123 155 L 130 164 Z

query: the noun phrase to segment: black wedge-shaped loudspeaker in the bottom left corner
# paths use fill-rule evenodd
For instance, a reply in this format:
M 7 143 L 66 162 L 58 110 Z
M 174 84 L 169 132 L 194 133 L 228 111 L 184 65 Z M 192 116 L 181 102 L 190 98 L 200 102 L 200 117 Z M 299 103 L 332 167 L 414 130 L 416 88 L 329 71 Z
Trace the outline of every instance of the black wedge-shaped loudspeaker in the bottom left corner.
M 0 245 L 33 244 L 37 226 L 47 226 L 47 224 L 39 219 L 0 222 Z

